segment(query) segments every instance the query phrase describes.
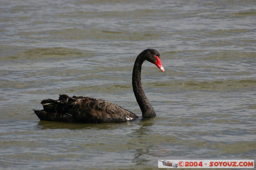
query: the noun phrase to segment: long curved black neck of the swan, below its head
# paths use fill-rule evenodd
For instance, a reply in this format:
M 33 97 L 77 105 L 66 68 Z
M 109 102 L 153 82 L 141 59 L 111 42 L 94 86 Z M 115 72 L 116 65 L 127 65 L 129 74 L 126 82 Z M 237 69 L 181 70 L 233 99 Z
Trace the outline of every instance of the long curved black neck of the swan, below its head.
M 142 117 L 149 118 L 155 117 L 156 112 L 151 106 L 148 98 L 146 97 L 145 93 L 143 92 L 142 85 L 141 85 L 141 65 L 145 61 L 142 55 L 139 55 L 134 63 L 133 71 L 132 71 L 132 87 L 135 98 L 140 106 L 140 110 L 142 112 Z

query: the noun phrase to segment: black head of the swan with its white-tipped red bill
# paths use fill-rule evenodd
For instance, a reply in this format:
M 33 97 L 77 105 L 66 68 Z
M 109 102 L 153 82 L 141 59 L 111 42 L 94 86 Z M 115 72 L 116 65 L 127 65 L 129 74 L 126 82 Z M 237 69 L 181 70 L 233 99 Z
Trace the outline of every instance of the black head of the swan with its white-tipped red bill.
M 145 56 L 145 60 L 155 64 L 160 70 L 164 71 L 164 67 L 160 60 L 160 54 L 155 49 L 146 49 L 141 52 Z

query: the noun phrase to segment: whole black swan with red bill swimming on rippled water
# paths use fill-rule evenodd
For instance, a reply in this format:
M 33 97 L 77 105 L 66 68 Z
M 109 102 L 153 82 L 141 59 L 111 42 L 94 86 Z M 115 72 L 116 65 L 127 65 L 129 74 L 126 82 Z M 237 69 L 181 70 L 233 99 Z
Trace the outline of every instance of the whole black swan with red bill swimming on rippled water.
M 142 51 L 134 63 L 132 71 L 132 87 L 136 100 L 142 112 L 142 118 L 155 117 L 156 113 L 149 103 L 141 86 L 141 65 L 147 60 L 150 63 L 164 71 L 158 51 L 146 49 Z M 41 102 L 44 109 L 34 110 L 40 120 L 55 122 L 127 122 L 132 121 L 139 116 L 117 106 L 116 104 L 101 99 L 90 97 L 69 97 L 66 94 L 60 94 L 58 100 L 46 99 Z

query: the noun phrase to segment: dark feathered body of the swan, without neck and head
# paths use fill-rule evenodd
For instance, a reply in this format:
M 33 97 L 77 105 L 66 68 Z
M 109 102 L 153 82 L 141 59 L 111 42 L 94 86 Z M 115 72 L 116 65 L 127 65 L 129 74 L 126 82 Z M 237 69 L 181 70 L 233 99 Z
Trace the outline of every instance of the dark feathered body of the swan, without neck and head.
M 40 120 L 57 122 L 126 122 L 138 118 L 132 112 L 107 101 L 89 97 L 69 97 L 61 94 L 58 100 L 41 102 L 44 109 L 34 110 Z

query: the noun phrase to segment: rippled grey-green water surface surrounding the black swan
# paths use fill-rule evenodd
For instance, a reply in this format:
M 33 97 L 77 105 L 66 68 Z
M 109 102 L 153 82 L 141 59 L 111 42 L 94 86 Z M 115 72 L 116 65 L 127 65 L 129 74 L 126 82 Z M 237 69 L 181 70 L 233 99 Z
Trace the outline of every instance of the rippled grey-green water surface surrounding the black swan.
M 158 159 L 254 159 L 256 2 L 3 1 L 1 169 L 157 169 Z M 110 100 L 141 115 L 142 66 L 157 116 L 133 122 L 40 121 L 59 94 Z

